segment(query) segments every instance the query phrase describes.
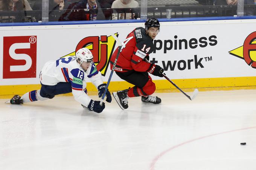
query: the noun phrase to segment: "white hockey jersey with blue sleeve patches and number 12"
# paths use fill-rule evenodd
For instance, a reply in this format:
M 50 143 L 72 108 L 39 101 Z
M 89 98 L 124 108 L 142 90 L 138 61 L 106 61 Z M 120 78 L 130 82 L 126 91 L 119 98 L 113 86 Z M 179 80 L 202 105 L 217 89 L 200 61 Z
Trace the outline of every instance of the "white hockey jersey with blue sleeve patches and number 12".
M 40 73 L 40 81 L 44 85 L 56 85 L 59 82 L 71 83 L 75 100 L 87 107 L 91 98 L 86 94 L 85 76 L 96 88 L 103 84 L 101 72 L 98 72 L 94 63 L 84 71 L 76 62 L 75 56 L 68 56 L 45 63 Z

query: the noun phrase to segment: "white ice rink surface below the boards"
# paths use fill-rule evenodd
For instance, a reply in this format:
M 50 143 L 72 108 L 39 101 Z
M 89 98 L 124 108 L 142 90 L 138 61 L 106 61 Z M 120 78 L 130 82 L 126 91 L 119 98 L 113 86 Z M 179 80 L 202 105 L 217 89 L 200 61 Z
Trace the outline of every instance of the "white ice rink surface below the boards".
M 256 169 L 256 90 L 155 95 L 161 104 L 113 99 L 102 113 L 73 97 L 0 99 L 0 170 Z

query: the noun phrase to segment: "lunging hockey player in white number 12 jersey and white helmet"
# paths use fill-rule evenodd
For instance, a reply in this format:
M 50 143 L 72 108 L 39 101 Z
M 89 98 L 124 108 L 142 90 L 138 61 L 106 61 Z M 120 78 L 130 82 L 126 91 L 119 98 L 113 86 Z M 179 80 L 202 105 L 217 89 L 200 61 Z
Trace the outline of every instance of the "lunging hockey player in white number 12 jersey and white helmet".
M 105 103 L 94 101 L 87 95 L 85 76 L 98 88 L 99 97 L 104 93 L 106 84 L 103 83 L 101 72 L 93 63 L 93 55 L 87 48 L 81 48 L 75 56 L 67 56 L 44 64 L 40 73 L 41 89 L 25 93 L 22 97 L 14 95 L 11 104 L 23 104 L 31 101 L 46 100 L 58 94 L 72 92 L 75 100 L 87 107 L 88 110 L 101 113 Z M 110 92 L 106 93 L 107 102 L 111 102 Z

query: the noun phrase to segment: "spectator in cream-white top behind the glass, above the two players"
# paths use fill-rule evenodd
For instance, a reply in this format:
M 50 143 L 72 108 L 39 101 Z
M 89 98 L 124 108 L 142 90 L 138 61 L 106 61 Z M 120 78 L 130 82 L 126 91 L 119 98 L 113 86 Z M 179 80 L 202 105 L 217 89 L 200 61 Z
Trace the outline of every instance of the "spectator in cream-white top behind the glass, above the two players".
M 136 8 L 139 7 L 139 3 L 135 0 L 115 0 L 111 8 Z M 117 13 L 112 14 L 112 19 L 118 19 Z M 119 19 L 134 19 L 135 14 L 126 13 L 126 18 L 124 18 L 124 13 L 119 15 Z

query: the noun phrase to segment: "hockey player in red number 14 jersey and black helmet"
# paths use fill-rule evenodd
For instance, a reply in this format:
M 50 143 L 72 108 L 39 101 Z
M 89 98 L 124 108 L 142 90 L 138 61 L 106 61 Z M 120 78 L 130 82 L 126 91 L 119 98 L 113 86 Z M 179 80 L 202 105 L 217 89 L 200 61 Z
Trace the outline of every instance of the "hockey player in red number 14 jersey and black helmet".
M 141 96 L 143 102 L 161 103 L 161 99 L 151 96 L 155 92 L 155 84 L 148 73 L 163 77 L 163 68 L 149 62 L 149 54 L 154 51 L 153 39 L 160 30 L 158 19 L 148 18 L 145 28 L 135 28 L 122 43 L 119 58 L 116 63 L 116 74 L 134 86 L 122 91 L 113 92 L 113 96 L 121 109 L 128 108 L 128 98 Z M 113 68 L 118 48 L 114 51 L 110 69 Z

